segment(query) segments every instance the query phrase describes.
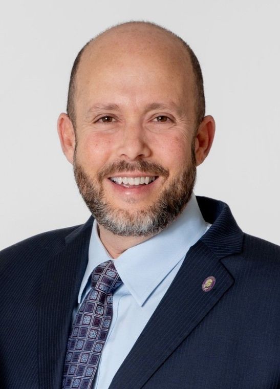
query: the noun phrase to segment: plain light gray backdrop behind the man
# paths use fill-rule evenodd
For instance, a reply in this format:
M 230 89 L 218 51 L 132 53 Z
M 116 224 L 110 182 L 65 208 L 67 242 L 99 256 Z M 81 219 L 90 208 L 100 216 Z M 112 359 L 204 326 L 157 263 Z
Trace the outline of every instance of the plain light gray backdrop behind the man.
M 196 194 L 227 202 L 244 231 L 280 244 L 278 0 L 16 0 L 0 15 L 0 248 L 89 217 L 56 120 L 80 48 L 131 19 L 179 34 L 201 62 L 217 131 Z

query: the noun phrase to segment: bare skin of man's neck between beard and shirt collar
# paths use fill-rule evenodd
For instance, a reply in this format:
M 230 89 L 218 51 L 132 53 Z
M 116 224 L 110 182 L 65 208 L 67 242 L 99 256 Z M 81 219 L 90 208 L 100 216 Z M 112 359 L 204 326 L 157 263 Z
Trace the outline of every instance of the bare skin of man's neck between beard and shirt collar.
M 105 249 L 109 252 L 112 258 L 117 258 L 121 255 L 125 250 L 139 245 L 146 240 L 148 240 L 150 236 L 120 236 L 115 235 L 112 232 L 106 230 L 104 227 L 98 224 L 99 229 L 99 237 L 104 245 Z

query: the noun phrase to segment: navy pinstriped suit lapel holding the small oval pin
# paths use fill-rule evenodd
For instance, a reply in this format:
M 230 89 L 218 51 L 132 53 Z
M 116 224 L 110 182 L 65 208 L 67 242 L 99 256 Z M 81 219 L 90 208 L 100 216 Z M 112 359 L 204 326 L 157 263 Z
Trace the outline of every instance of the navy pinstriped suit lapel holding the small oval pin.
M 206 207 L 208 212 L 211 204 L 198 200 L 205 220 L 213 225 L 188 251 L 174 282 L 120 366 L 110 389 L 140 389 L 234 283 L 221 259 L 241 251 L 243 233 L 226 204 L 221 203 L 221 209 L 217 209 L 216 202 L 206 218 L 203 211 Z M 208 276 L 214 276 L 216 284 L 211 291 L 204 292 L 202 283 Z

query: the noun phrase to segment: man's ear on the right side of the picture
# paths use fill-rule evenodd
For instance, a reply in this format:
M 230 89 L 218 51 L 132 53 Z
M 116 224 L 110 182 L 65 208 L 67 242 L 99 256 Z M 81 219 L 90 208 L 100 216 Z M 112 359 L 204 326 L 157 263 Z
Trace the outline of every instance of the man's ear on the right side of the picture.
M 207 157 L 215 134 L 215 121 L 212 116 L 207 115 L 200 123 L 196 135 L 196 160 L 197 166 Z

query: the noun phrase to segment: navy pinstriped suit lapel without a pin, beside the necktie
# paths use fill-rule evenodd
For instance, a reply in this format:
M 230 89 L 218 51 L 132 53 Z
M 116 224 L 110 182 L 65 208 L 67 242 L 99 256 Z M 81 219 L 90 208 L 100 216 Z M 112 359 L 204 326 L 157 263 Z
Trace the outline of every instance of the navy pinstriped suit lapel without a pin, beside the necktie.
M 88 262 L 92 219 L 50 253 L 38 306 L 39 387 L 60 388 L 72 312 Z

